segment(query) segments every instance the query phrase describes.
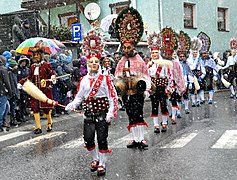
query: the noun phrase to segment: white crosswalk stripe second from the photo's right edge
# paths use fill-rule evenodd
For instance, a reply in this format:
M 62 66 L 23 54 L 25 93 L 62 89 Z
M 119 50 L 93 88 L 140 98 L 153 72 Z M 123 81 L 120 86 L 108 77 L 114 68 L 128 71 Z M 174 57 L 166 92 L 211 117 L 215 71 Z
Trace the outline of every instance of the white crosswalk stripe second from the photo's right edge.
M 187 145 L 198 133 L 189 133 L 175 139 L 161 148 L 182 148 Z

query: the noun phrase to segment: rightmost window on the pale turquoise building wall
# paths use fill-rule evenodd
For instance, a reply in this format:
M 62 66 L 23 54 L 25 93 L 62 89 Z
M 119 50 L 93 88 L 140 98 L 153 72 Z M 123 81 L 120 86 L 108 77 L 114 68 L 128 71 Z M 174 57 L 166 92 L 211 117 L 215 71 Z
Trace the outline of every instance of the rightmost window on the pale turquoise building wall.
M 218 8 L 217 9 L 217 28 L 218 31 L 227 31 L 227 9 Z

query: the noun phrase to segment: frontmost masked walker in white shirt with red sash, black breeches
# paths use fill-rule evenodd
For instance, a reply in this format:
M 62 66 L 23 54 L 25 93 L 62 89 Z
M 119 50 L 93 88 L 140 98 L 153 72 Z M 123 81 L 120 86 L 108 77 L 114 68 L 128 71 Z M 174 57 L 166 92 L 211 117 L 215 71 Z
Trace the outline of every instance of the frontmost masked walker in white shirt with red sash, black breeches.
M 97 40 L 96 43 L 93 43 L 94 38 Z M 112 118 L 116 117 L 118 99 L 109 76 L 101 74 L 99 58 L 103 44 L 96 31 L 90 31 L 87 34 L 83 49 L 88 58 L 88 73 L 81 78 L 77 95 L 65 110 L 71 111 L 83 103 L 84 141 L 93 158 L 90 169 L 92 172 L 97 170 L 97 175 L 102 176 L 106 173 L 105 155 L 111 152 L 107 141 L 108 126 Z M 95 149 L 95 131 L 99 152 Z

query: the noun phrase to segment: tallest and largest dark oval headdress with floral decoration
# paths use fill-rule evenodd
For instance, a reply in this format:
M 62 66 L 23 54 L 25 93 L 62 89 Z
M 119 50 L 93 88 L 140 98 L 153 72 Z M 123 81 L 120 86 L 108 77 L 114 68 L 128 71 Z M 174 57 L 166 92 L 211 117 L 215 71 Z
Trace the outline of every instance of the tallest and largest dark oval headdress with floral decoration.
M 128 42 L 136 45 L 144 31 L 141 15 L 132 7 L 123 9 L 116 19 L 116 29 L 122 44 Z

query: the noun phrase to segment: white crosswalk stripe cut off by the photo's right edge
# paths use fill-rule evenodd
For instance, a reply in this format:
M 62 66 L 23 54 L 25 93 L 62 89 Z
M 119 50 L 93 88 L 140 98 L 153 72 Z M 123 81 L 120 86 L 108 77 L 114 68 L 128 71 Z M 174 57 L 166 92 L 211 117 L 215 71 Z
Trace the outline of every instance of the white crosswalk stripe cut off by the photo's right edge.
M 226 130 L 211 148 L 237 149 L 237 130 Z

